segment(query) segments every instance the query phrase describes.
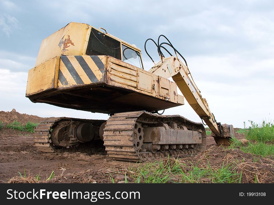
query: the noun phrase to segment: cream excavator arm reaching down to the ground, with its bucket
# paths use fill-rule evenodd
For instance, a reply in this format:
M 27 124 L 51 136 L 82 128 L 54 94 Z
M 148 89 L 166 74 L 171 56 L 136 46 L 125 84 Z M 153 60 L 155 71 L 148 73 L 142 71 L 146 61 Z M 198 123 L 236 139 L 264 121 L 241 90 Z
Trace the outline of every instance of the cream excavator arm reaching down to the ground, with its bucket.
M 164 78 L 172 77 L 189 105 L 212 131 L 215 142 L 217 144 L 229 144 L 229 139 L 234 135 L 233 126 L 216 122 L 207 101 L 201 96 L 200 90 L 194 83 L 189 69 L 180 59 L 174 56 L 163 58 L 149 72 Z

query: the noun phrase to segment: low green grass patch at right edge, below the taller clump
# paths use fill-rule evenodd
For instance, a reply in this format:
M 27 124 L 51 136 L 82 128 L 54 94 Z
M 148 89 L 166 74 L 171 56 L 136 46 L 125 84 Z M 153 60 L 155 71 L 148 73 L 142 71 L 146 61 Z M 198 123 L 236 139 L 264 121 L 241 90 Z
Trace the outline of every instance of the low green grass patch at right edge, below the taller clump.
M 242 146 L 240 149 L 245 153 L 253 153 L 263 157 L 274 155 L 274 145 L 267 145 L 264 142 L 248 143 L 247 146 Z

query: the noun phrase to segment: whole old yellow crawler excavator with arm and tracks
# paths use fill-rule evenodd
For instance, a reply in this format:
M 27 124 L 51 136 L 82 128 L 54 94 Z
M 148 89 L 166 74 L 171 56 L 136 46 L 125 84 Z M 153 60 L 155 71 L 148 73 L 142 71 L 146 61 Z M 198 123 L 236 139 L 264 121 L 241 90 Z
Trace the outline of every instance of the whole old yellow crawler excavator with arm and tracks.
M 160 43 L 161 37 L 167 42 Z M 149 40 L 157 47 L 157 64 L 146 50 Z M 164 50 L 169 57 L 164 56 Z M 233 126 L 216 122 L 185 58 L 171 42 L 164 35 L 157 43 L 148 39 L 145 51 L 155 64 L 149 71 L 144 70 L 141 50 L 134 44 L 84 23 L 71 22 L 44 39 L 35 67 L 28 73 L 26 97 L 34 103 L 110 117 L 42 121 L 35 129 L 37 150 L 46 154 L 64 149 L 105 150 L 114 160 L 122 161 L 205 151 L 202 123 L 158 113 L 184 105 L 184 98 L 211 129 L 215 142 L 229 144 Z M 170 77 L 174 82 L 168 80 Z M 178 95 L 177 87 L 183 96 Z

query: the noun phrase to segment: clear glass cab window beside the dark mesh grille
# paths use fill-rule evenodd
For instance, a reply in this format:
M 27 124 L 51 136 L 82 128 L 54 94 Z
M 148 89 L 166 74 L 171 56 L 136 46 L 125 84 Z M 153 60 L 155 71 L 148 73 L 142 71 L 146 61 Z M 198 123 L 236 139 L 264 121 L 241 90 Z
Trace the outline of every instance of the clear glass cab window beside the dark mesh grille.
M 143 68 L 140 53 L 123 44 L 122 44 L 122 60 L 138 68 Z

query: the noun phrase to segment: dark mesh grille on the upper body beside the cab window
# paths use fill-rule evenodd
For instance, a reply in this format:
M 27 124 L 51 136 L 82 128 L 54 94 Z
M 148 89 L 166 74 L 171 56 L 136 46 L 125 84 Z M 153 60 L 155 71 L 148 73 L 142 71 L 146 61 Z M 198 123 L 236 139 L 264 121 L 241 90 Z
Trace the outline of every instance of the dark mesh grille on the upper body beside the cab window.
M 121 60 L 120 41 L 92 28 L 87 44 L 86 55 L 109 55 Z

